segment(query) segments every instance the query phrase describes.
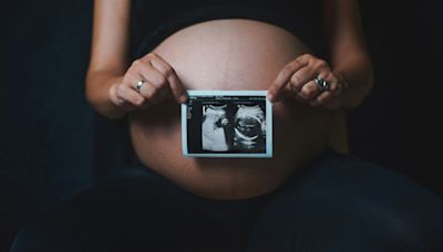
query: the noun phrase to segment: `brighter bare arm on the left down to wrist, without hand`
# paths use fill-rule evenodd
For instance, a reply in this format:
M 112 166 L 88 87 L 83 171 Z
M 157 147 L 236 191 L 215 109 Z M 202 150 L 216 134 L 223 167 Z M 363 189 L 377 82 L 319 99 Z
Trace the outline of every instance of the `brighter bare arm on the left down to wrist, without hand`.
M 131 0 L 95 0 L 86 99 L 102 115 L 117 118 L 124 109 L 112 103 L 110 90 L 122 82 L 128 51 Z

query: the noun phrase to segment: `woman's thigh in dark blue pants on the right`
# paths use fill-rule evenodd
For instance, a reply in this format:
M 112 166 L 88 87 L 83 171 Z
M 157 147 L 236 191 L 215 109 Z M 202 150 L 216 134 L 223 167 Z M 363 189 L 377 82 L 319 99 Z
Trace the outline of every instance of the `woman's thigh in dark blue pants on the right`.
M 327 155 L 259 216 L 250 251 L 443 251 L 443 201 L 361 159 Z

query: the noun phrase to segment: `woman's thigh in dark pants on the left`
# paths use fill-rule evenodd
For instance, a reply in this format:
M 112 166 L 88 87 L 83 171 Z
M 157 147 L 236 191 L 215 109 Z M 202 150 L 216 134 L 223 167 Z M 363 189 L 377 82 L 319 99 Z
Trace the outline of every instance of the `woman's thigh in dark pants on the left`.
M 212 209 L 223 206 L 155 174 L 125 171 L 24 227 L 12 251 L 207 251 L 231 242 L 233 223 Z

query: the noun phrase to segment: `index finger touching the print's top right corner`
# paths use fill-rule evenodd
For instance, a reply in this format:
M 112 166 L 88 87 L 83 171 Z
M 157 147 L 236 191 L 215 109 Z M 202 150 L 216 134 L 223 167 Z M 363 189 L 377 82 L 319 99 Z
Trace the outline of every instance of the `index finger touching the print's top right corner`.
M 270 102 L 277 102 L 281 95 L 281 90 L 289 83 L 290 77 L 295 72 L 308 64 L 308 59 L 306 56 L 299 56 L 295 61 L 287 64 L 275 78 L 274 83 L 268 90 L 268 99 Z

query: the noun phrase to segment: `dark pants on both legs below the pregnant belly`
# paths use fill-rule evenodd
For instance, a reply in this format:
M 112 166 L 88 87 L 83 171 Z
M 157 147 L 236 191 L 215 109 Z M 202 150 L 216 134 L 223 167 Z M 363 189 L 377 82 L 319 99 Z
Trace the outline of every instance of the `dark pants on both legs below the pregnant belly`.
M 208 200 L 143 169 L 23 227 L 30 251 L 443 251 L 443 201 L 389 169 L 324 155 L 276 191 Z

